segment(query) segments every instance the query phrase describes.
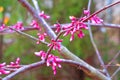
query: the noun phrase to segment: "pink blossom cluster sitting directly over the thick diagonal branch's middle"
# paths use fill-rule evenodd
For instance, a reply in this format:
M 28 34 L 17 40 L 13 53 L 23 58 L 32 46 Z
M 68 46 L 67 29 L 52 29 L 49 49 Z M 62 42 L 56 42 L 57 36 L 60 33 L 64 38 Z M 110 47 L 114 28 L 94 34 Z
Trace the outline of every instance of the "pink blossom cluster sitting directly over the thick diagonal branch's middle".
M 62 40 L 58 39 L 57 41 L 55 41 L 54 39 L 51 40 L 51 43 L 48 44 L 49 47 L 53 46 L 53 50 L 61 50 L 61 45 L 60 43 L 62 42 Z

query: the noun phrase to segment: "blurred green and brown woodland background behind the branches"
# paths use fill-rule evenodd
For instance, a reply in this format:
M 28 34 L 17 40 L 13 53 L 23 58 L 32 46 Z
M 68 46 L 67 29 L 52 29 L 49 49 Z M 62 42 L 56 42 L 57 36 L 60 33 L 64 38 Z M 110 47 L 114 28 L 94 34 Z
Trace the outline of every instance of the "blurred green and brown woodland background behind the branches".
M 32 5 L 32 0 L 28 0 Z M 92 2 L 91 13 L 109 5 L 117 0 L 94 0 Z M 83 10 L 87 8 L 88 0 L 38 0 L 41 10 L 51 16 L 48 20 L 50 25 L 56 22 L 69 23 L 69 16 L 81 17 Z M 99 14 L 99 17 L 105 23 L 120 24 L 120 5 L 109 8 Z M 24 26 L 30 26 L 32 16 L 24 9 L 17 0 L 0 0 L 0 25 L 2 22 L 6 25 L 14 25 L 18 21 L 23 22 Z M 92 27 L 95 42 L 107 64 L 112 57 L 120 50 L 120 29 Z M 27 31 L 26 33 L 36 36 L 37 31 Z M 84 31 L 83 39 L 75 38 L 75 41 L 69 42 L 69 37 L 64 39 L 65 45 L 71 52 L 85 60 L 90 65 L 99 68 L 95 51 L 89 39 L 88 31 Z M 37 36 L 36 36 L 37 37 Z M 71 46 L 72 45 L 72 46 Z M 47 50 L 43 44 L 37 45 L 35 41 L 30 40 L 18 33 L 0 34 L 0 63 L 14 61 L 17 57 L 21 58 L 21 64 L 30 64 L 40 59 L 34 55 L 34 52 Z M 53 54 L 59 56 L 58 52 Z M 120 62 L 120 56 L 114 61 L 114 64 Z M 117 67 L 109 67 L 112 74 Z M 24 75 L 24 76 L 23 76 Z M 5 75 L 3 75 L 5 76 Z M 2 76 L 2 77 L 3 77 Z M 57 70 L 54 76 L 51 68 L 40 67 L 24 72 L 12 80 L 92 80 L 88 78 L 82 70 L 78 70 L 71 65 L 62 64 L 62 69 Z M 114 77 L 114 80 L 120 80 L 120 74 Z

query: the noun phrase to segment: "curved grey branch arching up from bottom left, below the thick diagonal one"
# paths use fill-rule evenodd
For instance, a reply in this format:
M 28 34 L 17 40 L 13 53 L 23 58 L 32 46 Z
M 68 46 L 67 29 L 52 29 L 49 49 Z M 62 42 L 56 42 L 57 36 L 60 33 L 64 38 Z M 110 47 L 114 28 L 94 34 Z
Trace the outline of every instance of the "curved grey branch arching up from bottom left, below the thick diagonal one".
M 65 64 L 70 64 L 72 66 L 76 66 L 77 68 L 79 69 L 82 69 L 82 70 L 86 70 L 86 72 L 91 72 L 89 71 L 89 65 L 84 65 L 82 63 L 79 63 L 79 62 L 76 62 L 76 61 L 73 61 L 73 60 L 67 60 L 67 59 L 61 59 L 61 62 L 60 63 L 65 63 Z M 45 61 L 42 60 L 42 61 L 39 61 L 39 62 L 36 62 L 36 63 L 32 63 L 32 64 L 29 64 L 29 65 L 25 65 L 21 68 L 19 68 L 17 71 L 9 74 L 8 76 L 6 76 L 5 78 L 3 78 L 2 80 L 10 80 L 11 78 L 13 78 L 14 76 L 16 76 L 17 74 L 20 74 L 22 72 L 25 72 L 27 70 L 31 70 L 31 69 L 34 69 L 36 67 L 40 67 L 42 65 L 45 64 Z M 95 69 L 93 69 L 93 72 L 96 72 L 96 74 L 100 73 L 98 70 L 96 71 Z M 91 72 L 92 74 L 92 72 Z M 93 75 L 92 75 L 93 76 Z M 100 76 L 100 75 L 98 75 Z M 100 76 L 101 77 L 101 76 Z M 103 78 L 104 77 L 104 78 Z M 93 76 L 93 78 L 97 79 L 96 78 L 96 75 Z M 105 76 L 102 76 L 103 80 L 107 80 L 107 78 Z M 105 79 L 106 78 L 106 79 Z M 99 78 L 98 78 L 99 79 Z

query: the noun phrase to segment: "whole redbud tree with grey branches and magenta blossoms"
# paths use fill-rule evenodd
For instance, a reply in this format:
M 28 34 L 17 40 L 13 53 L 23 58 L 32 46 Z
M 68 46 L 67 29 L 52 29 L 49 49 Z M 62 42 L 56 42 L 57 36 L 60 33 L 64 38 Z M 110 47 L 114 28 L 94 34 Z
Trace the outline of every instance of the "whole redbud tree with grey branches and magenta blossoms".
M 115 57 L 107 65 L 105 65 L 97 49 L 97 46 L 93 40 L 91 32 L 91 25 L 96 25 L 99 27 L 100 26 L 119 27 L 119 25 L 105 24 L 104 20 L 99 18 L 97 14 L 114 5 L 119 4 L 120 1 L 105 6 L 102 9 L 91 14 L 90 12 L 91 0 L 89 0 L 88 8 L 84 9 L 83 11 L 84 15 L 82 17 L 77 18 L 75 16 L 70 16 L 69 17 L 71 21 L 70 23 L 61 24 L 57 22 L 53 26 L 49 26 L 48 23 L 45 21 L 46 19 L 50 19 L 50 16 L 47 15 L 44 11 L 40 11 L 37 4 L 37 0 L 33 0 L 35 8 L 33 8 L 27 0 L 18 1 L 21 4 L 21 6 L 23 6 L 34 17 L 34 20 L 32 20 L 32 22 L 29 23 L 29 25 L 31 26 L 32 29 L 38 31 L 37 33 L 38 37 L 35 38 L 34 36 L 31 36 L 23 32 L 25 30 L 28 30 L 29 28 L 24 27 L 22 22 L 17 22 L 12 26 L 6 26 L 5 24 L 2 24 L 0 26 L 0 32 L 6 33 L 17 32 L 21 35 L 34 39 L 36 41 L 36 45 L 41 44 L 46 45 L 48 49 L 46 51 L 40 50 L 39 52 L 34 52 L 34 55 L 36 55 L 36 57 L 40 58 L 41 60 L 32 64 L 22 65 L 20 63 L 20 58 L 16 58 L 16 60 L 14 62 L 10 62 L 10 64 L 6 64 L 5 62 L 0 63 L 0 75 L 6 75 L 5 77 L 1 78 L 2 80 L 10 80 L 17 74 L 20 74 L 24 71 L 30 70 L 35 67 L 40 67 L 42 65 L 51 67 L 53 70 L 53 75 L 55 76 L 57 74 L 57 68 L 62 69 L 61 65 L 62 63 L 71 64 L 71 66 L 75 66 L 76 68 L 83 70 L 84 73 L 86 73 L 86 75 L 90 76 L 95 80 L 112 80 L 112 78 L 120 70 L 118 68 L 112 75 L 109 74 L 107 68 L 111 65 L 111 63 L 116 58 L 116 55 L 118 54 L 116 54 Z M 55 30 L 53 30 L 53 28 Z M 43 29 L 45 32 L 43 32 Z M 101 64 L 101 69 L 97 69 L 89 65 L 84 60 L 78 58 L 76 55 L 71 53 L 65 46 L 62 45 L 62 41 L 64 39 L 61 39 L 60 38 L 61 36 L 66 37 L 70 35 L 70 39 L 68 42 L 71 43 L 71 41 L 74 41 L 75 37 L 78 37 L 78 39 L 84 38 L 85 33 L 83 30 L 89 31 L 91 42 L 96 51 L 98 60 L 100 61 Z M 48 36 L 50 37 L 50 41 L 46 40 L 46 37 Z M 60 55 L 63 56 L 63 58 L 53 55 L 52 51 L 54 50 L 58 51 L 58 53 L 60 53 Z M 119 64 L 117 64 L 116 66 L 119 67 Z

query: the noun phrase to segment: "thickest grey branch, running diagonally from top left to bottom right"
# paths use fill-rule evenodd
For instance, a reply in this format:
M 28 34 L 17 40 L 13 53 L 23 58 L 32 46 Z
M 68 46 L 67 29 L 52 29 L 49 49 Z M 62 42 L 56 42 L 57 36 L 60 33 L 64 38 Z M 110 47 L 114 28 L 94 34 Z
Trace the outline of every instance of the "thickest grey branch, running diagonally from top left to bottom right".
M 34 10 L 34 8 L 26 1 L 26 0 L 18 0 L 31 14 L 32 16 L 37 19 L 37 21 L 43 25 L 43 27 L 45 28 L 47 34 L 49 34 L 49 36 L 51 38 L 56 38 L 55 33 L 52 31 L 52 29 L 50 28 L 50 26 L 47 25 L 47 23 L 38 16 L 38 14 L 36 13 L 36 11 Z M 47 25 L 47 26 L 46 26 Z M 49 31 L 49 32 L 48 32 Z M 91 76 L 91 77 L 97 77 L 99 80 L 108 80 L 107 77 L 105 75 L 103 75 L 102 73 L 100 73 L 97 69 L 93 68 L 92 66 L 90 66 L 89 64 L 87 64 L 86 62 L 84 62 L 83 60 L 81 60 L 80 58 L 78 58 L 77 56 L 75 56 L 73 53 L 71 53 L 66 47 L 62 46 L 61 47 L 61 53 L 62 55 L 64 55 L 66 58 L 75 60 L 83 65 L 85 65 L 89 71 L 86 71 L 86 69 L 83 69 L 83 71 Z

